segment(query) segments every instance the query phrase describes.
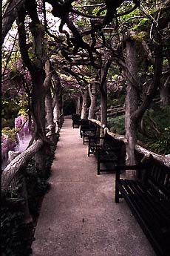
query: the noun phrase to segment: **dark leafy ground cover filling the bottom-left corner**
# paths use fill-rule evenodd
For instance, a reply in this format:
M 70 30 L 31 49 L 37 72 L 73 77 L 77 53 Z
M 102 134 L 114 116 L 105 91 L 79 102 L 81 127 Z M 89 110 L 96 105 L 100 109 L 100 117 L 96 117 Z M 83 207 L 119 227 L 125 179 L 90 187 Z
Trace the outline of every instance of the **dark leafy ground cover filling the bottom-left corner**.
M 1 207 L 1 255 L 28 256 L 24 200 L 7 200 Z M 28 228 L 28 227 L 27 227 Z

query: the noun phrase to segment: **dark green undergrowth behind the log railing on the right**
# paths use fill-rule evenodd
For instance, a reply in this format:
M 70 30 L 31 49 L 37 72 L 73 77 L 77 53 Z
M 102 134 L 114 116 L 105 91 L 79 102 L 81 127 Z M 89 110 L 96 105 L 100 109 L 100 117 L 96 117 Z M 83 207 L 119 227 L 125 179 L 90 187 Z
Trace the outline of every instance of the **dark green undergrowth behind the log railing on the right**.
M 157 154 L 170 154 L 170 120 L 169 120 L 170 106 L 158 108 L 156 110 L 149 109 L 143 116 L 143 125 L 147 134 L 152 137 L 141 134 L 137 131 L 137 140 L 143 142 L 145 147 Z M 155 131 L 152 127 L 153 123 L 149 119 L 154 120 L 157 130 L 160 132 L 158 137 L 155 137 Z M 108 128 L 116 128 L 116 133 L 125 134 L 124 116 L 116 116 L 115 118 L 108 118 Z

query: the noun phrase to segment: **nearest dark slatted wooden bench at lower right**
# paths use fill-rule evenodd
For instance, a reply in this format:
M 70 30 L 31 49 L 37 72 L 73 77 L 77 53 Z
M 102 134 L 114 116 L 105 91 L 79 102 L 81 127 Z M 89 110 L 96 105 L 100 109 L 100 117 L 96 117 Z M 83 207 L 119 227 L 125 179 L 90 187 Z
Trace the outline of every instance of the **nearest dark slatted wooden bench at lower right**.
M 120 178 L 137 169 L 137 178 Z M 139 166 L 117 166 L 115 203 L 124 198 L 157 256 L 170 255 L 170 168 L 151 157 Z

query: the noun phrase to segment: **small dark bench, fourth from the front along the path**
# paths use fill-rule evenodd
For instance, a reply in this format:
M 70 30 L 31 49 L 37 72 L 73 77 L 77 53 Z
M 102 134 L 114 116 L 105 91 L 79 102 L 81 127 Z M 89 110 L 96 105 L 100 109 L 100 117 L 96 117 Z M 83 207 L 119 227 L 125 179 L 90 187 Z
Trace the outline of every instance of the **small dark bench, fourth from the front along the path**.
M 81 119 L 80 135 L 83 143 L 89 142 L 89 137 L 96 137 L 97 125 L 88 119 Z

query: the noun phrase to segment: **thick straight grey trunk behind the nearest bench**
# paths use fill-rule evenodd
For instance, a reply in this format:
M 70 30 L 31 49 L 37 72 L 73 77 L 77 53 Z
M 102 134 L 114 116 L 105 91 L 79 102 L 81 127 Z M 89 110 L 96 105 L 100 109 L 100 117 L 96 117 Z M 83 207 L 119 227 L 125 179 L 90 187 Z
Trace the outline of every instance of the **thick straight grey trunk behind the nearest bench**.
M 135 42 L 128 39 L 126 42 L 127 68 L 132 76 L 128 79 L 126 88 L 126 112 L 125 112 L 125 128 L 126 128 L 126 165 L 135 165 L 135 145 L 137 143 L 136 131 L 137 123 L 132 119 L 132 114 L 138 106 L 137 85 L 133 85 L 132 81 L 137 81 L 137 52 Z M 130 177 L 133 177 L 135 171 L 128 171 Z

